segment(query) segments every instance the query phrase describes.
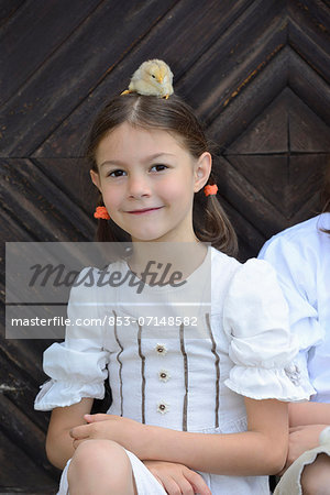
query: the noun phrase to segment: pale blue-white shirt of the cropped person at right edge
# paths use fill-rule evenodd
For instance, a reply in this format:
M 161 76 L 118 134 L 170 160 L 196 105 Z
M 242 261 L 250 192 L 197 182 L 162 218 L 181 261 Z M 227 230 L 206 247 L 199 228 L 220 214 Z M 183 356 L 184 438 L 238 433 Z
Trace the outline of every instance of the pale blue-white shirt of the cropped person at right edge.
M 300 348 L 300 366 L 330 403 L 330 213 L 290 227 L 265 243 L 258 257 L 276 270 Z

